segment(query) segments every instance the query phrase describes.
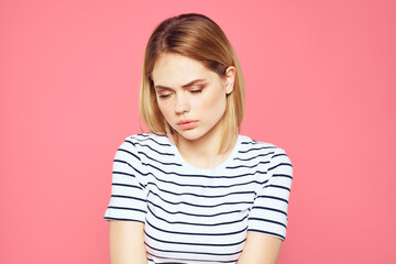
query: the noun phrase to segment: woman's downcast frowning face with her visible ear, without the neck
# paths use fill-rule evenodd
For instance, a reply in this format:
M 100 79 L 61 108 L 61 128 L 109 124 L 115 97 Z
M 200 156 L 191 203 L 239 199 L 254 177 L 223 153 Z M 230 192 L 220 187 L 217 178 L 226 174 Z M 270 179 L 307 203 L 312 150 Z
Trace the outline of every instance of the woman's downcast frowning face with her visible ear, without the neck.
M 226 77 L 220 77 L 198 61 L 162 54 L 152 79 L 158 108 L 168 124 L 189 141 L 219 135 L 219 121 L 226 112 L 227 95 L 233 89 L 234 73 L 234 67 L 229 67 Z

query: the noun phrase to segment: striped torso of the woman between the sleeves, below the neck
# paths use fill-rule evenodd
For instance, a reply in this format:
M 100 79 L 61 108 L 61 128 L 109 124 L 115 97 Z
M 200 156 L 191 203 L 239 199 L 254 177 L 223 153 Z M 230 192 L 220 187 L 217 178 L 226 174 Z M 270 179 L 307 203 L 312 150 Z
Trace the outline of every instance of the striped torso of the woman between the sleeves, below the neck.
M 166 136 L 131 139 L 142 162 L 148 263 L 235 263 L 276 146 L 240 135 L 213 169 L 187 164 Z

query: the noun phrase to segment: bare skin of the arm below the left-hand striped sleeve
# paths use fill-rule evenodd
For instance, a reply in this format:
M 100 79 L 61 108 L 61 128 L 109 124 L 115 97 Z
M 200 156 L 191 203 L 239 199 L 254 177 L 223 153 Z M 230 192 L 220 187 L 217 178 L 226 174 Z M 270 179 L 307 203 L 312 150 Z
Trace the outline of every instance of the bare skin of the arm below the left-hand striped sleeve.
M 110 221 L 110 256 L 112 264 L 146 264 L 144 223 Z

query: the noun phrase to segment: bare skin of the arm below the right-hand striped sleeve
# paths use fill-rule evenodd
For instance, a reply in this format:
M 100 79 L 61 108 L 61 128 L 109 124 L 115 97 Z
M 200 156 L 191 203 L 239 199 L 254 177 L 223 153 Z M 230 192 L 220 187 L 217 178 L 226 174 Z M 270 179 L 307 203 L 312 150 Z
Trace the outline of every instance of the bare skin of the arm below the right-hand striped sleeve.
M 238 264 L 275 264 L 283 240 L 260 232 L 248 232 Z

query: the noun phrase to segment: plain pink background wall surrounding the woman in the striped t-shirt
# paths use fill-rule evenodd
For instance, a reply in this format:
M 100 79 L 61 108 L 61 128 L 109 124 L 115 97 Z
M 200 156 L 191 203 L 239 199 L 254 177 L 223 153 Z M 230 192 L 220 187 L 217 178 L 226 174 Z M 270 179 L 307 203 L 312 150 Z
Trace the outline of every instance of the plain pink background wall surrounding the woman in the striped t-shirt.
M 395 263 L 396 1 L 0 1 L 0 263 L 109 263 L 111 166 L 154 26 L 201 12 L 246 81 L 242 132 L 294 163 L 279 262 Z

